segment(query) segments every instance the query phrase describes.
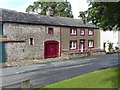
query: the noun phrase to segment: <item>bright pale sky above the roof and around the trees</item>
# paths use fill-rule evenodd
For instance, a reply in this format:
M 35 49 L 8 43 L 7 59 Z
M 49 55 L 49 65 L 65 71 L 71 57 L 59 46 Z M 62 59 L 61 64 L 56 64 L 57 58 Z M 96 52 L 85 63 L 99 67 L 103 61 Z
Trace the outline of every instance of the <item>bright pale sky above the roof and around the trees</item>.
M 33 2 L 37 0 L 0 0 L 0 8 L 16 10 L 18 12 L 25 12 L 29 5 L 33 5 Z M 78 19 L 79 11 L 85 11 L 88 9 L 87 0 L 67 0 L 72 5 L 72 11 L 74 18 Z

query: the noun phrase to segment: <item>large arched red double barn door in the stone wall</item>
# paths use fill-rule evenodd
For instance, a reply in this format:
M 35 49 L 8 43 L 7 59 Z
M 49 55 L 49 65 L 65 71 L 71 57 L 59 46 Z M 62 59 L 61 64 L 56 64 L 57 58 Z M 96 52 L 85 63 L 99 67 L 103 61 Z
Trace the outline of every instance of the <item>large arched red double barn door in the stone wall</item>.
M 44 58 L 58 57 L 59 42 L 51 40 L 44 43 Z

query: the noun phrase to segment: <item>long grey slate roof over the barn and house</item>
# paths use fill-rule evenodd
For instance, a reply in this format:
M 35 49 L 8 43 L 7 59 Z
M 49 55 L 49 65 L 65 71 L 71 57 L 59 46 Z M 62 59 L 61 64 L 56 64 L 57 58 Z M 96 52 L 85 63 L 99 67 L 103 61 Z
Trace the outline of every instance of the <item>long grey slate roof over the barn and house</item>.
M 84 24 L 83 21 L 80 19 L 58 16 L 55 17 L 40 16 L 36 14 L 27 14 L 2 8 L 0 8 L 0 22 L 98 28 L 89 23 Z

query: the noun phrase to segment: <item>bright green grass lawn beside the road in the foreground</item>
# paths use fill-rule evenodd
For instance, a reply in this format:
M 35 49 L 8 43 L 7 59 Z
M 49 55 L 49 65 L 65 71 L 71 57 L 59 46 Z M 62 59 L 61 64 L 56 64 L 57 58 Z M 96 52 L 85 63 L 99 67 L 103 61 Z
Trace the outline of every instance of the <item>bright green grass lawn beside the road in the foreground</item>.
M 87 73 L 42 88 L 118 88 L 120 66 Z M 120 74 L 119 74 L 120 75 Z M 120 78 L 119 78 L 120 79 Z M 119 85 L 120 86 L 120 85 Z M 39 90 L 38 88 L 37 90 Z

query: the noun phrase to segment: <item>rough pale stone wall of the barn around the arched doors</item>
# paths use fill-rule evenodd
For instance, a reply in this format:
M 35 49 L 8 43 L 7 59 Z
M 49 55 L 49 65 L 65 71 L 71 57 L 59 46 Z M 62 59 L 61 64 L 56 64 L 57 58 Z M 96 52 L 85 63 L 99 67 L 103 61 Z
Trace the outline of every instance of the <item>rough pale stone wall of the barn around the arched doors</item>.
M 25 41 L 5 43 L 6 61 L 43 59 L 44 42 L 49 40 L 60 42 L 59 27 L 16 23 L 5 23 L 3 27 L 8 41 Z M 48 35 L 48 27 L 54 28 L 54 35 Z M 34 39 L 34 45 L 29 44 L 30 38 Z

